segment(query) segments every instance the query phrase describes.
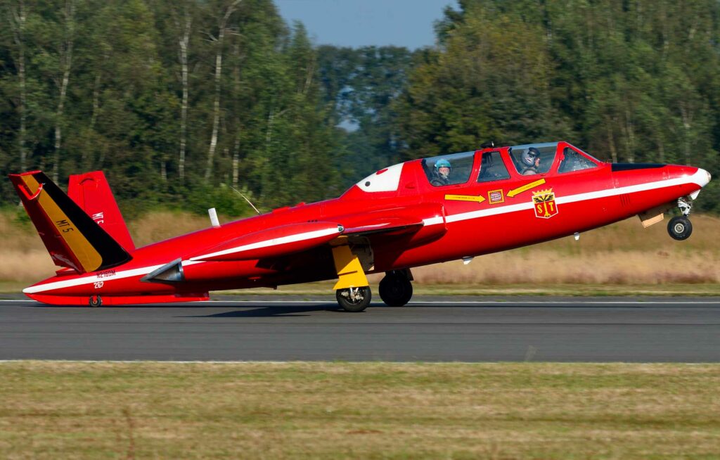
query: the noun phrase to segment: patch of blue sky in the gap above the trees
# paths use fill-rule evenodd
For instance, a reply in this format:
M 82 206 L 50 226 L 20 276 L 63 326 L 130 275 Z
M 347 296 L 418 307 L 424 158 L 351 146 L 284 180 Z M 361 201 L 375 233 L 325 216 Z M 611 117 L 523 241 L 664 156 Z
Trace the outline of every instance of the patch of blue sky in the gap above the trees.
M 435 44 L 433 22 L 456 0 L 275 0 L 282 17 L 305 24 L 316 45 Z

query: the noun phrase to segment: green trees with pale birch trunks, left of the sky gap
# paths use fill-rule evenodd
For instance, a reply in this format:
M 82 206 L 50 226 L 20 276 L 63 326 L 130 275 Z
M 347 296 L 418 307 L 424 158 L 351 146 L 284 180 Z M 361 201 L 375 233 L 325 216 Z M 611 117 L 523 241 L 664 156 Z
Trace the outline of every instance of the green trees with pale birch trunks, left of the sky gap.
M 4 173 L 102 168 L 137 208 L 340 191 L 317 53 L 269 0 L 3 0 Z M 3 202 L 14 192 L 1 181 Z M 233 197 L 230 199 L 230 197 Z

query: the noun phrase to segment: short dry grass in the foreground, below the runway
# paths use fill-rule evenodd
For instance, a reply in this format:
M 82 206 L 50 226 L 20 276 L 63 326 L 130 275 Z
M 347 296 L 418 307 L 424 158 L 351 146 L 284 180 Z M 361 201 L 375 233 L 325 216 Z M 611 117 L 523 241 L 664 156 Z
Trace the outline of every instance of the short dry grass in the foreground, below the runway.
M 717 459 L 716 364 L 0 364 L 4 459 Z

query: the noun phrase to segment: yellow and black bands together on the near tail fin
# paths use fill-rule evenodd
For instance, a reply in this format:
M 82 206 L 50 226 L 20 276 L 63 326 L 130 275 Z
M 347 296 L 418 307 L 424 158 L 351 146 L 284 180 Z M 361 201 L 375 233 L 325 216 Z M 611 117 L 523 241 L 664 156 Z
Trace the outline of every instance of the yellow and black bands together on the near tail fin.
M 75 259 L 79 265 L 76 269 L 96 271 L 130 261 L 130 254 L 50 181 L 45 173 L 38 171 L 22 174 L 20 179 L 30 191 L 30 197 L 35 196 L 37 199 L 37 204 L 47 218 L 46 224 L 54 230 L 55 238 L 60 238 L 68 248 L 67 256 Z

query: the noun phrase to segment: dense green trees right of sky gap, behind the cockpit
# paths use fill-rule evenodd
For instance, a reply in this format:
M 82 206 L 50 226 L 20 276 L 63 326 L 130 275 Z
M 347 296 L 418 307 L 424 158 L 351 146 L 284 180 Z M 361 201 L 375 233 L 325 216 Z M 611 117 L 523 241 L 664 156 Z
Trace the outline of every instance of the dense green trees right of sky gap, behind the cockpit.
M 461 0 L 396 105 L 405 156 L 570 140 L 720 172 L 720 4 Z M 703 192 L 720 209 L 720 184 Z

